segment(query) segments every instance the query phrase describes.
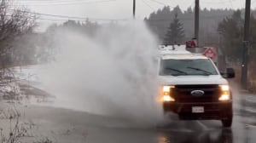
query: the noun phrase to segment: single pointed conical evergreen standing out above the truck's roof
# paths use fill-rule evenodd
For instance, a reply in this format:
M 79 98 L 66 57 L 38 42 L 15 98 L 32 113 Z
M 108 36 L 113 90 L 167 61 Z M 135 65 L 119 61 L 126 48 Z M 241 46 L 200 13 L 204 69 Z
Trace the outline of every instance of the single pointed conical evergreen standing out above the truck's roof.
M 174 20 L 170 24 L 166 37 L 164 39 L 165 44 L 175 44 L 182 43 L 184 39 L 183 24 L 177 19 L 177 14 L 175 14 Z

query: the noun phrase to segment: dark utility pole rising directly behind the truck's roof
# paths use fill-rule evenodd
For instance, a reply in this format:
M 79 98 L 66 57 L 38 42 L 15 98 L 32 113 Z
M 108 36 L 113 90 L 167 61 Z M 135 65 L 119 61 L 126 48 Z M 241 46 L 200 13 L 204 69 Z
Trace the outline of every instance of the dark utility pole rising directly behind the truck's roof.
M 199 0 L 195 0 L 195 39 L 197 45 L 199 45 Z

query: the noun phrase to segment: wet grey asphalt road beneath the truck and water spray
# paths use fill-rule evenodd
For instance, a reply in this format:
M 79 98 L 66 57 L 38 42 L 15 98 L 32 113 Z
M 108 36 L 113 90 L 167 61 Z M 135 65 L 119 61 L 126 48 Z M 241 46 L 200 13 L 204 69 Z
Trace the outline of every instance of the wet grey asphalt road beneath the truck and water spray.
M 49 129 L 50 133 L 70 132 L 68 135 L 56 135 L 57 142 L 255 143 L 256 113 L 253 112 L 253 105 L 256 105 L 256 96 L 241 97 L 234 103 L 234 119 L 230 129 L 222 128 L 220 121 L 172 121 L 155 128 L 130 127 L 127 124 L 123 126 L 123 121 L 116 118 L 55 107 L 32 107 L 32 114 L 27 113 L 27 117 L 34 121 L 39 119 L 40 129 L 46 132 Z

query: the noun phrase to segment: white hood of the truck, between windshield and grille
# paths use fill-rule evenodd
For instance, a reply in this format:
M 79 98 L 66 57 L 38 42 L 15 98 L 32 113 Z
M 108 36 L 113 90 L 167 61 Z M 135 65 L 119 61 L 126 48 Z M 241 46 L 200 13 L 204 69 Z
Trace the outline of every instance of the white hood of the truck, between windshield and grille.
M 160 76 L 163 85 L 189 85 L 189 84 L 227 84 L 227 80 L 220 75 L 211 76 Z

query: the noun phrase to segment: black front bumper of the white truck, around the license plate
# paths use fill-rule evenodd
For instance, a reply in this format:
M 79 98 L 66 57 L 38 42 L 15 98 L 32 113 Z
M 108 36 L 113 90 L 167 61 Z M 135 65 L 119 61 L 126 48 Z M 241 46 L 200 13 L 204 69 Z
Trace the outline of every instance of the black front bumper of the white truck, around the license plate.
M 204 112 L 192 112 L 192 108 L 201 106 Z M 232 101 L 207 103 L 164 102 L 164 112 L 177 113 L 181 120 L 222 120 L 233 117 Z

